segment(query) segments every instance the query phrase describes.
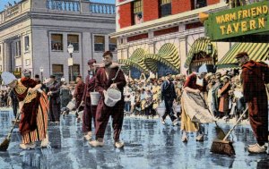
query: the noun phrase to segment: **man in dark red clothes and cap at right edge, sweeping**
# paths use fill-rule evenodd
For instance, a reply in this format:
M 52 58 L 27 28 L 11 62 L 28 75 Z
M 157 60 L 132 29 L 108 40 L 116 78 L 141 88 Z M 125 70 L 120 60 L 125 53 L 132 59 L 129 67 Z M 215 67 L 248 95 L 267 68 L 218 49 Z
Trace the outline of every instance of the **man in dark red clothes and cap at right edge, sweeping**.
M 266 152 L 268 144 L 268 99 L 265 84 L 269 82 L 269 68 L 265 63 L 249 60 L 247 52 L 236 55 L 242 67 L 243 94 L 248 105 L 249 122 L 257 143 L 248 145 L 248 152 Z

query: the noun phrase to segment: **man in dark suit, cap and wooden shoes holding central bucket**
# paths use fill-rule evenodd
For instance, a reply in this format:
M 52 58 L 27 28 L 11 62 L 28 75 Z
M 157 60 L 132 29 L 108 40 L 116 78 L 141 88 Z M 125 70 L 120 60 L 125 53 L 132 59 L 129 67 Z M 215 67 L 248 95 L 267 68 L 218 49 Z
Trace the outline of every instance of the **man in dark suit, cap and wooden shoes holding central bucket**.
M 114 144 L 116 148 L 122 148 L 124 142 L 119 140 L 124 120 L 124 97 L 123 90 L 126 86 L 124 72 L 119 70 L 117 63 L 112 63 L 113 55 L 107 51 L 103 54 L 104 65 L 100 66 L 96 74 L 95 89 L 100 93 L 100 101 L 96 111 L 96 140 L 90 142 L 91 147 L 102 147 L 104 135 L 108 125 L 109 117 L 112 117 L 114 130 Z M 105 103 L 106 92 L 109 88 L 118 89 L 121 92 L 121 99 L 115 106 L 108 106 Z

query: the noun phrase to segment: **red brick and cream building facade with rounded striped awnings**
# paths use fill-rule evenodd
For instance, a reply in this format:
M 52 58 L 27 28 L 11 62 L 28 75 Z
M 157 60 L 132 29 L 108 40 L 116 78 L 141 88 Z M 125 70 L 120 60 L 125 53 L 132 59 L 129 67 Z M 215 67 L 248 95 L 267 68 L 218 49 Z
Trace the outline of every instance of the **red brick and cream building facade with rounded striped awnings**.
M 213 69 L 225 55 L 229 42 L 204 37 L 199 13 L 228 8 L 223 0 L 117 0 L 116 33 L 119 63 L 139 73 L 187 73 L 202 64 Z

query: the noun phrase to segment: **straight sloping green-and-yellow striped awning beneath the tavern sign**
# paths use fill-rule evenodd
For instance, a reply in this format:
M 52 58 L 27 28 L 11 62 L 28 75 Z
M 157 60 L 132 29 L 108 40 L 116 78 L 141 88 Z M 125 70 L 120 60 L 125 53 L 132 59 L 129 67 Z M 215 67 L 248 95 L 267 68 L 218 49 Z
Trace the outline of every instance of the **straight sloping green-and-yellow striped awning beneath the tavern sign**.
M 249 58 L 254 61 L 265 61 L 269 55 L 267 43 L 236 43 L 230 51 L 217 63 L 218 69 L 238 67 L 235 55 L 239 52 L 247 52 Z

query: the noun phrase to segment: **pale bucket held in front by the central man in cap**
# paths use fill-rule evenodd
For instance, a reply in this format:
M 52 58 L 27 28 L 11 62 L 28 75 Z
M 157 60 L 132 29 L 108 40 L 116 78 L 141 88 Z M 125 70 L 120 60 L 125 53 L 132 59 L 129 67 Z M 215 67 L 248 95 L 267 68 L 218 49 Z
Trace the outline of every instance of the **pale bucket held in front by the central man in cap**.
M 108 89 L 104 94 L 106 106 L 115 106 L 121 99 L 121 92 L 117 89 Z

